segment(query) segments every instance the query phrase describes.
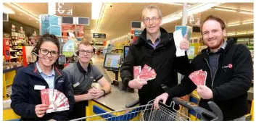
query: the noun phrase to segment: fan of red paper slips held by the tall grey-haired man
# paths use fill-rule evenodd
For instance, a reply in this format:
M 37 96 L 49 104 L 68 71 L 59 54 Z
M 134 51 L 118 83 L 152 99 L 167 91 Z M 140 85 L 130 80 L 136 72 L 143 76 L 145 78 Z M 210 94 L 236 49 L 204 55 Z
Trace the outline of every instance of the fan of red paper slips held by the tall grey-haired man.
M 133 67 L 133 77 L 134 78 L 140 78 L 144 80 L 154 80 L 154 78 L 157 76 L 157 73 L 154 72 L 154 69 L 149 67 L 148 65 L 144 65 L 144 67 L 141 69 L 141 66 L 134 66 Z

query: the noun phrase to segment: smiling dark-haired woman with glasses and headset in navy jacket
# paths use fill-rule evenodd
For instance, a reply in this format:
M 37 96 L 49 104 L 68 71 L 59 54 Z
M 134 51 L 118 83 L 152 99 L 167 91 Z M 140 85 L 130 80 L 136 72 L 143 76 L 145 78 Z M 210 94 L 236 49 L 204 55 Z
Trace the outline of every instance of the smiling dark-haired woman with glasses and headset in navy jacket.
M 75 98 L 67 75 L 54 67 L 59 57 L 59 41 L 55 35 L 45 34 L 33 49 L 36 62 L 18 69 L 13 80 L 11 107 L 20 120 L 67 120 Z M 69 110 L 47 113 L 49 106 L 41 102 L 41 90 L 50 88 L 65 94 Z

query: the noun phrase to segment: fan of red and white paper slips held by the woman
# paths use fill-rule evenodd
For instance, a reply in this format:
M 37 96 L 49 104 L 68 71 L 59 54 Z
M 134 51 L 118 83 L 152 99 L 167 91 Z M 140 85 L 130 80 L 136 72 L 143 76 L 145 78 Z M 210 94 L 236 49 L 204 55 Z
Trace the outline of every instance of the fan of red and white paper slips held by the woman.
M 46 110 L 46 113 L 70 109 L 70 104 L 65 94 L 56 89 L 41 90 L 41 101 L 42 104 L 49 105 L 49 109 Z

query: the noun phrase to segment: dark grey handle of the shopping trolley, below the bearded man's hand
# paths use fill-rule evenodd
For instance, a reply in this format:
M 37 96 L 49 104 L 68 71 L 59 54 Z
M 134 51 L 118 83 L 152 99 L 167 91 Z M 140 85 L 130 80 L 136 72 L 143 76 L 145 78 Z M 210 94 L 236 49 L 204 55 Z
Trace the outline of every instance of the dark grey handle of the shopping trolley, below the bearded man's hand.
M 210 116 L 212 118 L 212 120 L 223 120 L 222 111 L 216 105 L 216 103 L 214 103 L 212 101 L 208 102 L 208 105 L 210 106 L 210 109 L 212 109 L 212 111 L 208 111 L 207 109 L 204 109 L 204 108 L 199 107 L 199 106 L 192 106 L 191 103 L 189 103 L 187 101 L 182 101 L 179 98 L 173 98 L 173 101 L 177 104 L 185 106 L 188 109 L 194 110 L 199 114 L 205 114 L 207 116 Z

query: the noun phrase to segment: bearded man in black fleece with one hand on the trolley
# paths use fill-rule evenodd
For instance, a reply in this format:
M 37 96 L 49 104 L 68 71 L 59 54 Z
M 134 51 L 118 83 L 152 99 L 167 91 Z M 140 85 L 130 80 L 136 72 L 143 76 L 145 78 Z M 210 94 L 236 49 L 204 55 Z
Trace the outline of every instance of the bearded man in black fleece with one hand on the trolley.
M 242 44 L 231 38 L 224 40 L 226 25 L 219 17 L 210 15 L 202 23 L 202 38 L 208 48 L 202 50 L 191 62 L 192 71 L 207 71 L 205 85 L 194 85 L 189 77 L 181 84 L 158 96 L 154 106 L 168 97 L 181 97 L 197 88 L 202 98 L 199 106 L 210 110 L 208 101 L 214 101 L 223 112 L 224 120 L 245 120 L 248 112 L 247 91 L 252 83 L 252 56 Z

